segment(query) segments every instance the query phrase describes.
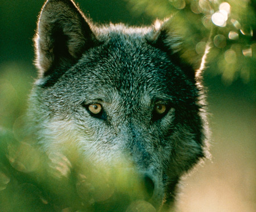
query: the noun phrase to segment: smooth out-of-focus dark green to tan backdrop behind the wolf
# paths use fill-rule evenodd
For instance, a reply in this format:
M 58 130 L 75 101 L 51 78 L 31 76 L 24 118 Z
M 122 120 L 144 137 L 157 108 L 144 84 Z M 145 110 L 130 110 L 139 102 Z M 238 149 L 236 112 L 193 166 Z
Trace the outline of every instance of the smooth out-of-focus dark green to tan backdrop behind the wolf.
M 151 24 L 155 17 L 138 15 L 127 1 L 77 0 L 94 22 Z M 32 38 L 44 0 L 0 0 L 0 126 L 14 128 L 26 111 L 36 77 Z M 254 52 L 253 52 L 253 56 Z M 256 142 L 255 77 L 225 81 L 213 68 L 204 74 L 208 88 L 212 160 L 183 181 L 179 211 L 255 211 Z M 256 66 L 256 64 L 255 64 Z M 255 67 L 254 66 L 254 67 Z M 250 68 L 252 66 L 250 65 Z M 254 73 L 254 70 L 253 72 Z M 0 209 L 1 210 L 1 209 Z

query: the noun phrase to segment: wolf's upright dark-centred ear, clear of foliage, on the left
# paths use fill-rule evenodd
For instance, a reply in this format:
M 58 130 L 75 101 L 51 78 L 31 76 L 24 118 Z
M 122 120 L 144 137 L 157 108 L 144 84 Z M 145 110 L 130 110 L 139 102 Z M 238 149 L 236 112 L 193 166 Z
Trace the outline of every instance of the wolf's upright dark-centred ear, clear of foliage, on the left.
M 40 13 L 35 36 L 40 76 L 68 68 L 96 44 L 88 20 L 72 0 L 48 0 Z

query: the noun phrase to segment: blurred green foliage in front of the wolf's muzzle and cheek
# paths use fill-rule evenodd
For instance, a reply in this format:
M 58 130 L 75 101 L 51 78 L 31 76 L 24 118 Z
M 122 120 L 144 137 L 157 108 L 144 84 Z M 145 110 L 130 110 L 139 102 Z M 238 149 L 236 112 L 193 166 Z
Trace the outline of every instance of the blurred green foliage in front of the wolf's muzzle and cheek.
M 73 146 L 65 155 L 59 148 L 46 153 L 32 137 L 14 134 L 0 128 L 3 211 L 155 212 L 151 203 L 138 200 L 147 198 L 146 190 L 127 160 L 102 167 L 82 160 Z

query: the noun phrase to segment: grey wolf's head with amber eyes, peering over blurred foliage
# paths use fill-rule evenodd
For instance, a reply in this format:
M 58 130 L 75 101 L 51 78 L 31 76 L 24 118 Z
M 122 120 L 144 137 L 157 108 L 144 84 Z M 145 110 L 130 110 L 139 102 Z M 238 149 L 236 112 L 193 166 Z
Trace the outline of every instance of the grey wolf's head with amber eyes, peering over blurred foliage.
M 172 202 L 205 146 L 200 77 L 180 59 L 172 20 L 96 26 L 73 1 L 48 0 L 35 49 L 29 114 L 43 151 L 76 149 L 80 160 L 108 169 L 122 161 L 155 207 Z

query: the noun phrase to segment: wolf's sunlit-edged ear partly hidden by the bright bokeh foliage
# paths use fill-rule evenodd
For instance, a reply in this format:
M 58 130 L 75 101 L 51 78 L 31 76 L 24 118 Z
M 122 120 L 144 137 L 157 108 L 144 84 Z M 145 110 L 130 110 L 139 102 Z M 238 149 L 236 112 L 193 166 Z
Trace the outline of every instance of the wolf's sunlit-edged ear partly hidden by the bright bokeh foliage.
M 198 55 L 195 47 L 189 44 L 189 39 L 184 39 L 184 28 L 177 26 L 175 17 L 168 18 L 163 22 L 156 20 L 153 30 L 148 34 L 148 41 L 157 48 L 167 52 L 172 62 L 181 67 L 184 73 L 192 80 L 201 77 L 204 69 L 205 53 Z M 179 21 L 177 23 L 180 23 Z

